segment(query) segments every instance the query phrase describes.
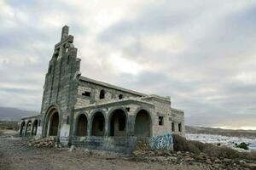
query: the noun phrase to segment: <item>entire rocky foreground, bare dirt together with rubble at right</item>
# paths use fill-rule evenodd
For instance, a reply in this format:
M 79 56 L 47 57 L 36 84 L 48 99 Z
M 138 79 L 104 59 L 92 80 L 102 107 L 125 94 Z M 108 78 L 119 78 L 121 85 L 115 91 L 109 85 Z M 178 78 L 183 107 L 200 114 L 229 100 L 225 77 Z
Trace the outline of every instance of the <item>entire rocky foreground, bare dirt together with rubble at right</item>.
M 27 141 L 2 133 L 2 169 L 256 169 L 247 160 L 230 160 L 165 150 L 135 150 L 132 156 L 74 148 L 59 148 L 52 139 Z

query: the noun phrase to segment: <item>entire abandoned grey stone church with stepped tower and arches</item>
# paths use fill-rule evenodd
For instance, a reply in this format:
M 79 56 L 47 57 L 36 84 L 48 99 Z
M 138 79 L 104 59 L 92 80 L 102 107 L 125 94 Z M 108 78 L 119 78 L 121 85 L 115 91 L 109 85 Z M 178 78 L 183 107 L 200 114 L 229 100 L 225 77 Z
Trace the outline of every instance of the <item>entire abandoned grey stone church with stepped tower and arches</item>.
M 82 77 L 78 49 L 68 31 L 68 26 L 62 28 L 61 42 L 49 60 L 41 113 L 21 118 L 21 136 L 55 136 L 63 145 L 127 151 L 137 139 L 184 135 L 184 113 L 171 107 L 170 97 Z

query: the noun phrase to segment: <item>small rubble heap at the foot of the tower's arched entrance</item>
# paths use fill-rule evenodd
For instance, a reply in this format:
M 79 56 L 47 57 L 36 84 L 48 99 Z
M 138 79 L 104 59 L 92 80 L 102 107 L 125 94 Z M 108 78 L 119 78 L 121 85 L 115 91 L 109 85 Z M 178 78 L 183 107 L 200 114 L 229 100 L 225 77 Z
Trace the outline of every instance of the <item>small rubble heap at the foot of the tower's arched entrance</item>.
M 55 147 L 55 137 L 47 137 L 44 139 L 31 139 L 22 141 L 21 145 L 34 146 L 34 147 Z

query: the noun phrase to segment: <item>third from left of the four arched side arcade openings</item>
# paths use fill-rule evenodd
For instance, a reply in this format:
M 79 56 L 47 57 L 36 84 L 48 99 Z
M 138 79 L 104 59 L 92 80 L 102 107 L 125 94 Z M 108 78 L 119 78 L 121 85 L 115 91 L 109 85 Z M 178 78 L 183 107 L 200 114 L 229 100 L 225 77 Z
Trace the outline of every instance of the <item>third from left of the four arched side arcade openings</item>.
M 126 115 L 125 111 L 115 110 L 110 117 L 110 136 L 126 135 Z

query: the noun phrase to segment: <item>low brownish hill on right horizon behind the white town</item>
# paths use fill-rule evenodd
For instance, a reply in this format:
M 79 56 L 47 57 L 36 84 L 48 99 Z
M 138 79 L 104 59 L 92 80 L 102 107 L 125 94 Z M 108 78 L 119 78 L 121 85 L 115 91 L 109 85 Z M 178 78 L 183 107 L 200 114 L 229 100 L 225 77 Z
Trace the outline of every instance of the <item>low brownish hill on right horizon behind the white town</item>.
M 256 138 L 256 130 L 231 130 L 231 129 L 212 128 L 212 127 L 186 126 L 186 133 L 205 133 L 205 134 L 218 134 L 223 136 Z

